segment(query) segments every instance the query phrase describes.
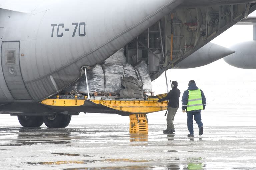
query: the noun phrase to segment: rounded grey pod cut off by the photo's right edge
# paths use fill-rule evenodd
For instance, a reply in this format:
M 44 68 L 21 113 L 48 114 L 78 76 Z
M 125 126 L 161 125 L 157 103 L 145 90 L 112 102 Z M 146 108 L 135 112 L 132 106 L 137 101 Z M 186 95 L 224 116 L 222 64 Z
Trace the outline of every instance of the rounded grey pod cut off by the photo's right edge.
M 241 42 L 231 47 L 236 50 L 224 60 L 238 68 L 256 69 L 256 41 Z

